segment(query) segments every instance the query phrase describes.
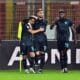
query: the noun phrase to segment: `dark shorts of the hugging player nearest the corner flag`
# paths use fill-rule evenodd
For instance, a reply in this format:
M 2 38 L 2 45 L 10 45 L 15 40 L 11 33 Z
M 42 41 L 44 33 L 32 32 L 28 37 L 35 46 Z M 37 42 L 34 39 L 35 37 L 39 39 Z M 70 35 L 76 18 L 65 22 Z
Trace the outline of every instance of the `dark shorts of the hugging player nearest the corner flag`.
M 22 39 L 20 42 L 20 50 L 23 55 L 27 55 L 29 52 L 34 52 L 34 46 L 32 40 Z

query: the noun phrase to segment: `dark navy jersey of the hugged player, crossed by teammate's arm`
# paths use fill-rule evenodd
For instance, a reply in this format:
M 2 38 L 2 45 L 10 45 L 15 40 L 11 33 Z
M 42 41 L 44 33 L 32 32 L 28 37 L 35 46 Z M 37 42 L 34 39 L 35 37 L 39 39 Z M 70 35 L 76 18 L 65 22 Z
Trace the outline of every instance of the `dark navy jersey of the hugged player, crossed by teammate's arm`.
M 39 29 L 40 27 L 42 27 L 42 28 L 44 28 L 44 31 L 43 31 L 43 32 L 36 33 L 36 34 L 34 35 L 34 37 L 36 37 L 36 38 L 38 38 L 38 39 L 44 38 L 44 37 L 45 37 L 44 32 L 46 31 L 46 25 L 47 25 L 47 20 L 44 20 L 44 19 L 39 20 L 39 19 L 38 19 L 38 20 L 35 22 L 35 24 L 34 24 L 34 26 L 33 26 L 33 29 L 34 29 L 34 30 L 37 30 L 37 29 Z

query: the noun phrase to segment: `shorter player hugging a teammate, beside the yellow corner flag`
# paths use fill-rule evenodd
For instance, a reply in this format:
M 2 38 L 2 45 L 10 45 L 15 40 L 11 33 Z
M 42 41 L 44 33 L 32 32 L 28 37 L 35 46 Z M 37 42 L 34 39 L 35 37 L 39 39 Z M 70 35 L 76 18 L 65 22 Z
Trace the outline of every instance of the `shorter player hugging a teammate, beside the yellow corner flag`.
M 43 31 L 44 29 L 39 28 L 37 30 L 32 29 L 32 25 L 34 24 L 36 20 L 35 16 L 31 16 L 28 21 L 25 21 L 22 26 L 22 37 L 21 37 L 21 43 L 20 48 L 23 55 L 23 67 L 25 69 L 26 73 L 29 73 L 29 71 L 35 73 L 33 66 L 34 66 L 34 46 L 33 46 L 33 35 L 37 32 Z M 30 61 L 30 68 L 28 68 L 26 63 L 26 58 L 29 58 Z

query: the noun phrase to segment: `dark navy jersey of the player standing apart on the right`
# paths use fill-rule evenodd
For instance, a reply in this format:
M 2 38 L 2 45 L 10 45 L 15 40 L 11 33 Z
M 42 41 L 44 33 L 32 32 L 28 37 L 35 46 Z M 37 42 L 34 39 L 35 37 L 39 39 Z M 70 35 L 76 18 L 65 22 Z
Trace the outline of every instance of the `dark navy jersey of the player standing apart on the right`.
M 69 19 L 59 19 L 55 22 L 57 26 L 57 40 L 61 41 L 69 41 L 69 27 L 72 26 L 72 21 Z

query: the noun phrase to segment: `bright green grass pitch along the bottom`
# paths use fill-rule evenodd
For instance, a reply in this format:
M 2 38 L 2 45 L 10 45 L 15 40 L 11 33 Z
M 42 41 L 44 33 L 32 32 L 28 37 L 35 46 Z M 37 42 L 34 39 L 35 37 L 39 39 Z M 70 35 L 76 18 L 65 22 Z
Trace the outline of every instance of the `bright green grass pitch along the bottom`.
M 0 80 L 80 80 L 80 70 L 71 70 L 68 73 L 62 73 L 60 70 L 45 70 L 40 74 L 0 70 Z

